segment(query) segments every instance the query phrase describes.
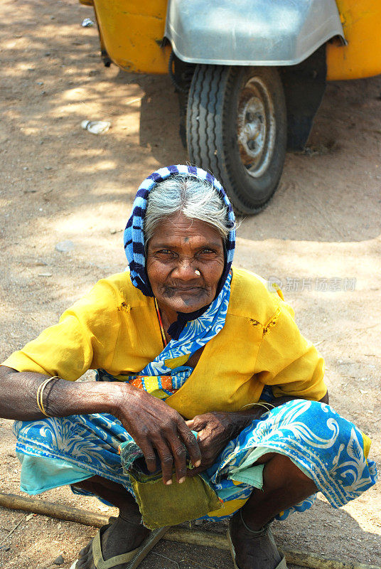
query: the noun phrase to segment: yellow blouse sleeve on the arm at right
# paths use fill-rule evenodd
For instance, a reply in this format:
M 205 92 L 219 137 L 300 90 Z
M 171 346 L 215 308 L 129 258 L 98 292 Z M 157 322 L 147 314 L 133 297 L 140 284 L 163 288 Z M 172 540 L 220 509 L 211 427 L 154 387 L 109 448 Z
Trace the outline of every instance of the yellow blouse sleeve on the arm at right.
M 276 397 L 299 395 L 318 401 L 326 395 L 324 360 L 301 335 L 293 309 L 283 300 L 264 326 L 256 373 L 264 385 L 272 385 Z

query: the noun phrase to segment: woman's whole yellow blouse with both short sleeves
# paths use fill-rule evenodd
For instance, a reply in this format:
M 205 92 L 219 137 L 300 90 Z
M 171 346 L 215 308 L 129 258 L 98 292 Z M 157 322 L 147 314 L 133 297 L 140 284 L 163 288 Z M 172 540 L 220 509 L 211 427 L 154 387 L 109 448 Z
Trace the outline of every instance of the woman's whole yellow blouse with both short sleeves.
M 123 380 L 161 350 L 154 299 L 123 272 L 97 282 L 58 324 L 3 365 L 69 381 L 103 368 Z M 183 365 L 181 359 L 176 366 Z M 254 273 L 234 268 L 224 328 L 205 345 L 191 377 L 166 403 L 185 418 L 235 411 L 256 403 L 264 385 L 273 385 L 277 397 L 319 400 L 327 391 L 323 373 L 323 358 L 301 335 L 280 290 L 269 291 Z

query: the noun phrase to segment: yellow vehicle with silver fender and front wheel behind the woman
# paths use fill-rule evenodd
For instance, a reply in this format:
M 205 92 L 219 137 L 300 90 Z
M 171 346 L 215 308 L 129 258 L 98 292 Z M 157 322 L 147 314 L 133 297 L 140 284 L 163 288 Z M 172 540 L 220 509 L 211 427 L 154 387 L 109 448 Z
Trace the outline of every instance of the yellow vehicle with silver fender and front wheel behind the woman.
M 80 0 L 93 6 L 105 65 L 169 73 L 191 162 L 237 211 L 277 189 L 303 149 L 326 81 L 381 73 L 378 0 Z

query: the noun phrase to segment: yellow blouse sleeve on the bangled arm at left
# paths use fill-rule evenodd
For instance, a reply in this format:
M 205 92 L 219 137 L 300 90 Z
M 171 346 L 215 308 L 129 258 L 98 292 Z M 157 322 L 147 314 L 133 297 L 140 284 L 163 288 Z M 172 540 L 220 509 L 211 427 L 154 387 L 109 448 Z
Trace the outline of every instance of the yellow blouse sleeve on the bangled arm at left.
M 106 368 L 114 357 L 118 314 L 117 291 L 107 280 L 100 280 L 63 313 L 58 324 L 12 353 L 2 365 L 70 381 L 88 369 Z

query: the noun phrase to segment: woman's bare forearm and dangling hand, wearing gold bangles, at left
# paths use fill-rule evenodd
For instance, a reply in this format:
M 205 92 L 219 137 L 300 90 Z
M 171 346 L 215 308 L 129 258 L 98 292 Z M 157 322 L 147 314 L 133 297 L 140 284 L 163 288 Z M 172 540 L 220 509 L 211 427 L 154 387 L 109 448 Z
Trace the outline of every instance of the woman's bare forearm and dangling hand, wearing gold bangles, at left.
M 0 366 L 0 417 L 21 421 L 43 418 L 36 402 L 38 387 L 47 378 L 43 373 L 18 372 Z M 50 417 L 111 413 L 127 429 L 141 448 L 150 472 L 161 460 L 164 484 L 186 477 L 186 452 L 195 467 L 201 453 L 185 420 L 160 399 L 129 383 L 113 381 L 72 382 L 56 379 L 44 391 L 45 410 Z

